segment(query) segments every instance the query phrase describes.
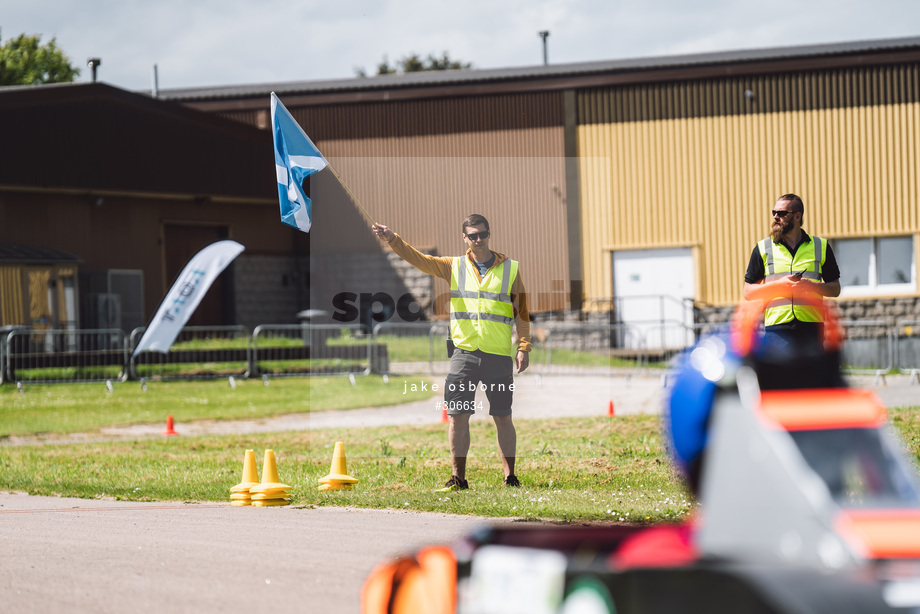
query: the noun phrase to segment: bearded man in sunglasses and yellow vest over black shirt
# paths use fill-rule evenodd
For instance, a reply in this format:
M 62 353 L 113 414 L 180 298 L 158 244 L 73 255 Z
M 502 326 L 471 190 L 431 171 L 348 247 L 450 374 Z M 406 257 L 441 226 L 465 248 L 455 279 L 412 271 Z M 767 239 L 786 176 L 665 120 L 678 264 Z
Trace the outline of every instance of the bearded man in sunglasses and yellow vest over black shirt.
M 840 296 L 840 269 L 826 239 L 802 230 L 805 205 L 795 194 L 780 196 L 771 211 L 769 237 L 754 246 L 744 275 L 744 297 L 760 284 L 776 286 L 777 296 L 764 310 L 764 329 L 793 347 L 823 338 L 823 315 L 817 307 L 796 304 L 796 296 Z

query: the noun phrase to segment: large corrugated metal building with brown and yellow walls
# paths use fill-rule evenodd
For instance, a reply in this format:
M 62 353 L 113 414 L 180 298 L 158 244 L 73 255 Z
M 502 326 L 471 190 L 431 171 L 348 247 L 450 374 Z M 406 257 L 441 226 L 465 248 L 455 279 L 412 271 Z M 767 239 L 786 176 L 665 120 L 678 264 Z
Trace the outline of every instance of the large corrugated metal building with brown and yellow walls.
M 483 213 L 537 311 L 615 298 L 665 317 L 642 297 L 740 298 L 786 192 L 833 240 L 844 300 L 916 298 L 918 71 L 910 38 L 161 95 L 267 129 L 273 90 L 411 243 L 457 254 Z M 372 249 L 317 228 L 314 250 Z

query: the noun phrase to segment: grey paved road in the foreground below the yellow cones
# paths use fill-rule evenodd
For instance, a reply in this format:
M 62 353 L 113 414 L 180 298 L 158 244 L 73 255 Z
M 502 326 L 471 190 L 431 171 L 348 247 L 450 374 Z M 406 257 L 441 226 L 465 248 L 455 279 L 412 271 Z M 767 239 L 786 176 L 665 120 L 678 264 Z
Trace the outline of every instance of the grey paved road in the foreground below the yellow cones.
M 377 562 L 485 524 L 403 511 L 0 493 L 0 609 L 350 614 Z

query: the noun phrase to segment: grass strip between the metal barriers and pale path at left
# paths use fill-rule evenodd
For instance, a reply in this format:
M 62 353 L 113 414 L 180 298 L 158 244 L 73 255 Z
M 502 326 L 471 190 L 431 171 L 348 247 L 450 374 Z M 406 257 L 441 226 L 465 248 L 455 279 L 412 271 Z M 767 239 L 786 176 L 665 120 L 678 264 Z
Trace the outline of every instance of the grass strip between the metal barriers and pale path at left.
M 251 420 L 282 414 L 393 405 L 428 398 L 431 392 L 403 394 L 395 381 L 379 376 L 279 378 L 269 381 L 138 382 L 0 386 L 0 437 L 37 433 L 95 431 L 105 426 L 161 423 L 172 414 L 179 422 Z

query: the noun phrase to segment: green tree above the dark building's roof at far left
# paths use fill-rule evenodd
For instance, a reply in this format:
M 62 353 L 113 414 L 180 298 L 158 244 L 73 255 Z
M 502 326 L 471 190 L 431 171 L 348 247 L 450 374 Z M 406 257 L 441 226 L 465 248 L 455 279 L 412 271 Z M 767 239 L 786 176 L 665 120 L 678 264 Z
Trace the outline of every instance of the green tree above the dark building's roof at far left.
M 0 45 L 0 85 L 69 83 L 80 75 L 54 38 L 41 44 L 41 36 L 20 34 Z

